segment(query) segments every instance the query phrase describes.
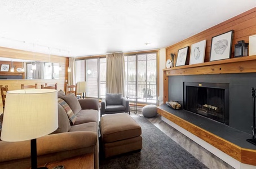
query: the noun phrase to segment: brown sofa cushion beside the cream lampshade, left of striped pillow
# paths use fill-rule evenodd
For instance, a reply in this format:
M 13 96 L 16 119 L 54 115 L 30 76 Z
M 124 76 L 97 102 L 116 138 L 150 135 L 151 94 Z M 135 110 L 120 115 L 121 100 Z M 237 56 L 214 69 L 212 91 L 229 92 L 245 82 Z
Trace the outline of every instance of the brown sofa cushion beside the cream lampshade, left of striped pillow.
M 57 128 L 57 130 L 52 132 L 52 134 L 70 131 L 71 126 L 69 123 L 69 118 L 64 108 L 60 104 L 58 104 L 58 124 L 59 127 Z

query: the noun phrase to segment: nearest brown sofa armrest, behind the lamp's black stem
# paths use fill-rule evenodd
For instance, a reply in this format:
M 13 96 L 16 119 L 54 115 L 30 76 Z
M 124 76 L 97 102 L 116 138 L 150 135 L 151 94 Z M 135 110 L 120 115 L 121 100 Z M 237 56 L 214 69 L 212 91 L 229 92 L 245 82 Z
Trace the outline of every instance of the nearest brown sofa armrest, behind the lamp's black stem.
M 76 131 L 46 135 L 37 139 L 37 155 L 64 152 L 96 146 L 96 132 Z M 30 140 L 18 142 L 0 141 L 0 162 L 30 158 Z M 95 152 L 89 152 L 95 153 Z

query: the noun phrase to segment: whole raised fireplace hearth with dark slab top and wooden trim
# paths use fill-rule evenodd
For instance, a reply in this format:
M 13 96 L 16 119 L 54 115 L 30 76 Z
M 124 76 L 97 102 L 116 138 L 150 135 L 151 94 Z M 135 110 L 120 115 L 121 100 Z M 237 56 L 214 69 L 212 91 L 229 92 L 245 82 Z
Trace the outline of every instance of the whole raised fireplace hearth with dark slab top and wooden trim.
M 225 124 L 188 112 L 158 106 L 162 120 L 234 168 L 256 168 L 256 146 L 251 135 Z

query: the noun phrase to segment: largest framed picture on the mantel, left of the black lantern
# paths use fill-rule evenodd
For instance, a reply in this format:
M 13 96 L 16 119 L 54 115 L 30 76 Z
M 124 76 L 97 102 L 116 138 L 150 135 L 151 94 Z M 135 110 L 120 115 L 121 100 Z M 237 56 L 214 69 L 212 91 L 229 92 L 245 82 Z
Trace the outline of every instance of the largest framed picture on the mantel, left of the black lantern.
M 228 59 L 231 56 L 234 30 L 211 38 L 210 61 Z

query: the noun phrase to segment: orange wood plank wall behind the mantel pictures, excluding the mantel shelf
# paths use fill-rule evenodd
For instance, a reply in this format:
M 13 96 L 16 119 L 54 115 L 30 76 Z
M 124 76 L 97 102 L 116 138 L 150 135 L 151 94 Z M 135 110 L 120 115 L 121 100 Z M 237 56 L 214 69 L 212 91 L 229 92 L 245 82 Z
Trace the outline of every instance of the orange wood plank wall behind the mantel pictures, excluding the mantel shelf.
M 205 61 L 210 61 L 210 50 L 211 50 L 211 38 L 216 35 L 226 33 L 229 30 L 234 30 L 233 41 L 232 41 L 232 54 L 231 58 L 234 57 L 234 48 L 237 41 L 244 40 L 249 43 L 249 36 L 256 34 L 256 7 L 249 11 L 246 11 L 240 15 L 232 17 L 229 20 L 224 21 L 218 25 L 215 25 L 209 29 L 204 30 L 198 34 L 193 35 L 181 42 L 171 45 L 166 48 L 166 60 L 170 59 L 170 54 L 175 53 L 174 63 L 176 63 L 176 57 L 178 55 L 178 50 L 180 48 L 189 46 L 188 56 L 186 60 L 186 65 L 189 65 L 190 57 L 190 47 L 193 43 L 200 42 L 206 39 L 206 51 L 205 51 Z M 250 45 L 249 45 L 250 47 Z M 248 50 L 249 51 L 249 50 Z M 175 64 L 174 64 L 175 65 Z M 168 77 L 164 74 L 164 101 L 168 100 Z

